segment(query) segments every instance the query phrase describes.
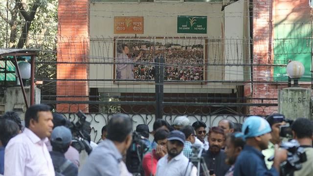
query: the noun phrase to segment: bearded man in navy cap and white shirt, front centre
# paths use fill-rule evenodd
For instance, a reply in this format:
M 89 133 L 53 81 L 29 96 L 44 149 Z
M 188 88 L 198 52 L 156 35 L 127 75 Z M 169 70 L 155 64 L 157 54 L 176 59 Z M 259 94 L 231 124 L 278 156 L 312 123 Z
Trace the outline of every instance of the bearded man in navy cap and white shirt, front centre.
M 167 152 L 156 166 L 156 176 L 196 176 L 197 168 L 182 153 L 185 134 L 174 130 L 167 138 Z

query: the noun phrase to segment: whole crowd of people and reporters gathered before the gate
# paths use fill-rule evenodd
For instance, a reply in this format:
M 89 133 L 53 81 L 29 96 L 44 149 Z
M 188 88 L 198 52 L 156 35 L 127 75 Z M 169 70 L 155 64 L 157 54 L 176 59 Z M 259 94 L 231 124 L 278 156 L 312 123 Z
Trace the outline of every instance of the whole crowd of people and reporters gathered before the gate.
M 286 165 L 291 151 L 279 148 L 280 127 L 287 121 L 283 114 L 250 116 L 242 125 L 222 119 L 210 128 L 202 121 L 191 124 L 186 116 L 175 118 L 172 125 L 156 119 L 152 132 L 145 124 L 133 132 L 128 115 L 114 114 L 83 163 L 61 114 L 47 105 L 33 105 L 24 119 L 23 126 L 14 111 L 0 116 L 0 175 L 279 176 L 286 174 L 281 172 L 285 163 L 288 174 L 313 176 L 313 122 L 306 118 L 290 126 L 292 138 L 306 154 L 298 169 Z

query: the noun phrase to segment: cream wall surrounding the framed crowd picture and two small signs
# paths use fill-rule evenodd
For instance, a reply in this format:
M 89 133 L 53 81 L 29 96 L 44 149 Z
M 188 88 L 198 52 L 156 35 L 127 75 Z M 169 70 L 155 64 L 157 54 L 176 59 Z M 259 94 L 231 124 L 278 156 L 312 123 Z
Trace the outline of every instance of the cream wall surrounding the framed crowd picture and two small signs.
M 213 42 L 221 39 L 224 26 L 224 12 L 221 11 L 221 3 L 208 2 L 158 2 L 158 3 L 136 3 L 136 2 L 91 2 L 90 3 L 90 61 L 100 61 L 96 58 L 113 58 L 114 37 L 134 37 L 134 35 L 114 35 L 114 16 L 143 16 L 144 34 L 137 37 L 205 37 L 208 42 L 208 62 L 210 64 L 222 64 L 223 43 Z M 177 16 L 193 15 L 207 16 L 207 34 L 178 34 Z M 102 38 L 102 39 L 101 39 Z M 105 40 L 103 38 L 106 38 Z M 100 40 L 99 42 L 96 42 Z M 102 61 L 104 61 L 102 59 Z M 223 66 L 208 66 L 207 80 L 221 81 L 224 79 Z M 112 79 L 112 65 L 90 65 L 90 79 Z M 90 82 L 90 88 L 102 88 L 104 91 L 116 92 L 154 92 L 154 84 L 113 84 L 108 82 Z M 165 85 L 164 92 L 189 92 L 189 93 L 230 93 L 234 85 L 222 83 Z

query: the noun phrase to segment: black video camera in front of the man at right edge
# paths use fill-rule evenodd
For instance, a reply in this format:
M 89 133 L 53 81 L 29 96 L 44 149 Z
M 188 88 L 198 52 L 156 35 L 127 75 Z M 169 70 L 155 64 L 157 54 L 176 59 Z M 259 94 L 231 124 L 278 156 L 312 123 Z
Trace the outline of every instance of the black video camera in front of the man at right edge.
M 287 160 L 280 165 L 282 176 L 293 176 L 294 171 L 302 168 L 303 162 L 307 161 L 307 155 L 303 147 L 295 139 L 289 142 L 283 142 L 280 146 L 288 151 Z

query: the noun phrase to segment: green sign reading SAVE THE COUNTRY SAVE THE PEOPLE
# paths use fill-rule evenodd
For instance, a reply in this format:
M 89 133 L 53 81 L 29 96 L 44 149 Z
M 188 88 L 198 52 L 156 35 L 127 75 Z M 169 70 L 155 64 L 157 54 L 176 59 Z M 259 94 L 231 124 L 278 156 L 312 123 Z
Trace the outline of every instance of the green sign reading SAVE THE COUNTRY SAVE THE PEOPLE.
M 206 16 L 178 16 L 177 33 L 206 34 Z

